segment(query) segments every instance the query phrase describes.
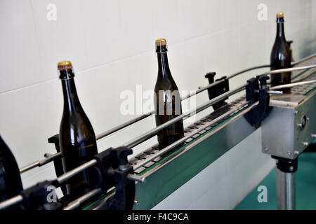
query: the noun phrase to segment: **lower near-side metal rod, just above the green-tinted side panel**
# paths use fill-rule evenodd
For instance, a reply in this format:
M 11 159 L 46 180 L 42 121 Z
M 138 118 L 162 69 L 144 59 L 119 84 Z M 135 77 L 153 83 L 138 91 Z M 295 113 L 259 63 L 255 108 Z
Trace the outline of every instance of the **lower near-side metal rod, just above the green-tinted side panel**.
M 242 107 L 246 106 L 247 104 L 249 104 L 249 102 L 245 102 L 244 104 L 239 106 L 239 108 L 242 108 Z M 154 160 L 155 158 L 159 157 L 160 155 L 163 155 L 167 151 L 170 151 L 171 149 L 175 148 L 176 146 L 179 146 L 180 144 L 183 144 L 183 142 L 185 142 L 187 139 L 190 139 L 192 136 L 195 136 L 195 134 L 197 134 L 199 132 L 202 132 L 204 129 L 206 129 L 206 127 L 209 127 L 209 126 L 213 125 L 214 123 L 217 123 L 218 120 L 221 120 L 221 119 L 225 118 L 226 116 L 229 116 L 231 113 L 233 113 L 235 111 L 236 111 L 236 109 L 231 109 L 230 111 L 227 111 L 226 113 L 223 113 L 221 116 L 218 116 L 217 118 L 209 121 L 208 123 L 206 123 L 202 127 L 199 127 L 199 129 L 195 130 L 194 132 L 190 132 L 190 134 L 188 134 L 187 136 L 179 139 L 178 141 L 173 142 L 173 144 L 170 144 L 169 146 L 166 146 L 165 148 L 160 150 L 159 153 L 156 153 L 156 154 L 154 154 L 152 156 L 149 156 L 146 160 L 143 160 L 142 162 L 138 162 L 134 166 L 134 169 L 136 170 L 136 169 L 138 169 L 140 167 L 143 167 L 143 165 L 145 165 L 146 163 Z

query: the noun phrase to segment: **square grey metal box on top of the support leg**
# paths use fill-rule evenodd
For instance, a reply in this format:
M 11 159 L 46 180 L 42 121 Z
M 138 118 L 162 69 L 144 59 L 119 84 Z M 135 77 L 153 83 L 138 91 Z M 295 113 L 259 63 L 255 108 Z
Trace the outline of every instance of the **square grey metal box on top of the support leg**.
M 270 114 L 261 124 L 263 153 L 294 160 L 312 143 L 316 133 L 316 92 L 305 91 L 305 95 L 272 97 Z

